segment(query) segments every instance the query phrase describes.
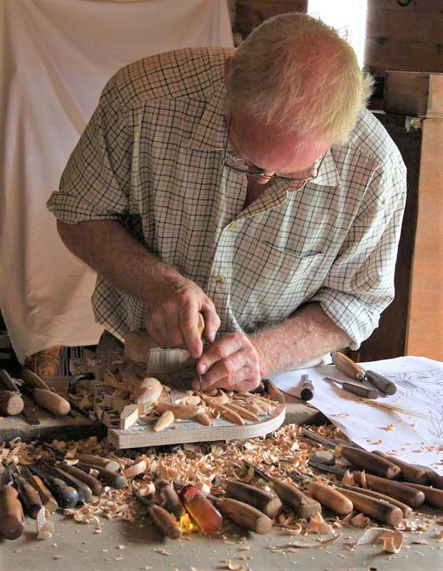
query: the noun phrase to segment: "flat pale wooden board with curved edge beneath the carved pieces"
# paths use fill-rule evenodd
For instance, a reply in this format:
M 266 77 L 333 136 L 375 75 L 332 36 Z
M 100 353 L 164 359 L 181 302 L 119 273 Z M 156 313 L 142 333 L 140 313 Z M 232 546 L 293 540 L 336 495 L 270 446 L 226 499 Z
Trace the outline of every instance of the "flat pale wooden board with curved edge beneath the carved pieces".
M 199 422 L 176 422 L 174 427 L 154 432 L 154 420 L 139 419 L 127 430 L 108 429 L 108 440 L 118 448 L 141 448 L 165 446 L 165 444 L 184 444 L 185 442 L 215 442 L 217 440 L 246 440 L 263 436 L 283 424 L 286 409 L 278 404 L 271 414 L 261 415 L 260 422 L 245 420 L 243 426 L 228 422 L 223 418 L 215 420 L 210 427 Z

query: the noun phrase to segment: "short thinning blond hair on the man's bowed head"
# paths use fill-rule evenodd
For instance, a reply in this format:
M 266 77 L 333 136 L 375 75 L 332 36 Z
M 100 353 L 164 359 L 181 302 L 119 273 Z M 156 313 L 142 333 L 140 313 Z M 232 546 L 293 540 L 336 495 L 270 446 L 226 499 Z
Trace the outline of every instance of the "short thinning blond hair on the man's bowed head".
M 345 142 L 372 91 L 350 44 L 320 19 L 263 22 L 233 56 L 226 106 L 298 136 Z

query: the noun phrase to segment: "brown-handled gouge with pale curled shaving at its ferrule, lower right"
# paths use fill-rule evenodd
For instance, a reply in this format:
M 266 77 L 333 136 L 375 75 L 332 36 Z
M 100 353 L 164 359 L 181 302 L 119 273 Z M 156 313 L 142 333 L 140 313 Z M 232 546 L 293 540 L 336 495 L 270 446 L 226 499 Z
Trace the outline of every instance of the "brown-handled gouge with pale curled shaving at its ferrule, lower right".
M 344 476 L 345 474 L 345 470 L 322 465 L 320 462 L 312 460 L 312 458 L 309 459 L 309 466 L 328 472 L 329 474 L 337 474 L 338 476 Z M 350 471 L 350 474 L 354 476 L 354 480 L 357 484 L 372 489 L 374 492 L 380 492 L 386 496 L 396 498 L 411 507 L 419 507 L 424 503 L 424 494 L 418 494 L 417 490 L 414 490 L 410 485 L 395 480 L 388 480 L 387 478 L 381 478 L 380 476 L 374 476 L 373 474 L 363 474 L 361 471 Z

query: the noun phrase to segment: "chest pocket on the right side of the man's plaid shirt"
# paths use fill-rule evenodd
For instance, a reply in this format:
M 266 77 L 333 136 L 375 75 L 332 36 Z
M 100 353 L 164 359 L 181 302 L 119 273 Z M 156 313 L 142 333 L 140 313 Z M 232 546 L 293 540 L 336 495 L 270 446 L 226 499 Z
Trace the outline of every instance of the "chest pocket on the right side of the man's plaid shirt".
M 321 252 L 282 250 L 266 241 L 240 248 L 233 263 L 230 306 L 244 330 L 281 321 L 320 288 L 329 258 Z

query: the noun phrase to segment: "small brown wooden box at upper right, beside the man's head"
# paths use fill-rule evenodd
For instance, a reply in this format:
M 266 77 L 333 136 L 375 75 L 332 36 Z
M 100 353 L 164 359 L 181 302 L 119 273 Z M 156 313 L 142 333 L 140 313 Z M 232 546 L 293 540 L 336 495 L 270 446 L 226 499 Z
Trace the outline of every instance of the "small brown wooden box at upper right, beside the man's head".
M 386 71 L 384 108 L 392 113 L 443 118 L 443 73 Z

